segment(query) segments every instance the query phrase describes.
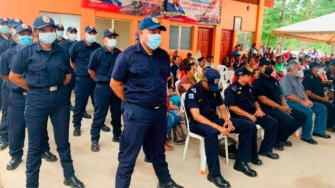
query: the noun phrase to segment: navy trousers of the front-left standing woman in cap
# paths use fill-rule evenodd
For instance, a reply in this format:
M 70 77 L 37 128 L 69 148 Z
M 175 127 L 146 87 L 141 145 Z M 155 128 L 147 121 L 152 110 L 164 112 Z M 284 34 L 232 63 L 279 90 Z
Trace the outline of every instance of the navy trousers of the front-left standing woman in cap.
M 53 125 L 53 134 L 57 152 L 61 158 L 63 175 L 70 178 L 74 175 L 71 159 L 68 128 L 70 108 L 68 106 L 68 89 L 58 88 L 57 91 L 29 90 L 26 95 L 24 116 L 28 130 L 29 145 L 26 160 L 26 187 L 38 187 L 39 169 L 44 143 L 47 138 L 48 117 Z

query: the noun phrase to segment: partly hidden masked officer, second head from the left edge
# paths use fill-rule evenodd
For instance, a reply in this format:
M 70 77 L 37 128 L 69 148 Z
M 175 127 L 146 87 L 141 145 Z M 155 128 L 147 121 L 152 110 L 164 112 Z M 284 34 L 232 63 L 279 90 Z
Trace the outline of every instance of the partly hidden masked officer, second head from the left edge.
M 16 35 L 16 27 L 21 25 L 22 21 L 20 19 L 10 19 L 8 22 L 9 32 L 11 33 L 11 37 L 0 43 L 0 56 L 4 51 L 9 50 L 10 48 L 14 48 L 17 44 L 17 38 L 14 38 Z M 0 150 L 6 149 L 8 146 L 8 99 L 9 99 L 9 88 L 7 85 L 7 81 L 4 80 L 2 83 L 2 92 L 1 92 L 1 122 L 0 122 Z

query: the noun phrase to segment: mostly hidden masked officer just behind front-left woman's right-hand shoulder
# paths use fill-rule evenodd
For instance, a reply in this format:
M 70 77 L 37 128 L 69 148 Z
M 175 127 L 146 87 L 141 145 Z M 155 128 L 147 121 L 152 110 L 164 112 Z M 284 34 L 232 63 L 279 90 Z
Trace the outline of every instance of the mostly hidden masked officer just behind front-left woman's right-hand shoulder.
M 58 45 L 61 46 L 61 47 L 63 47 L 64 49 L 66 49 L 66 51 L 69 52 L 70 51 L 70 47 L 73 45 L 73 43 L 77 42 L 77 33 L 78 33 L 78 31 L 77 31 L 76 27 L 69 26 L 66 29 L 66 37 L 68 39 L 64 40 L 64 41 L 61 41 L 60 43 L 58 43 Z M 72 78 L 71 78 L 71 83 L 68 84 L 68 95 L 69 95 L 69 98 L 71 98 L 72 90 L 74 88 L 75 83 L 76 83 L 76 73 L 73 71 Z M 70 110 L 73 111 L 73 105 L 71 104 L 71 100 L 70 100 Z

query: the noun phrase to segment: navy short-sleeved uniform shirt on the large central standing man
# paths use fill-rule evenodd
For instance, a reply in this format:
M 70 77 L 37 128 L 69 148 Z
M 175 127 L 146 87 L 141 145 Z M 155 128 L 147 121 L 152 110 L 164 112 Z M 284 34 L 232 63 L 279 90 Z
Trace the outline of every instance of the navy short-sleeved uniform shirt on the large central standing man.
M 149 56 L 140 43 L 125 49 L 115 62 L 112 78 L 123 82 L 125 100 L 148 108 L 166 105 L 170 57 L 161 48 Z

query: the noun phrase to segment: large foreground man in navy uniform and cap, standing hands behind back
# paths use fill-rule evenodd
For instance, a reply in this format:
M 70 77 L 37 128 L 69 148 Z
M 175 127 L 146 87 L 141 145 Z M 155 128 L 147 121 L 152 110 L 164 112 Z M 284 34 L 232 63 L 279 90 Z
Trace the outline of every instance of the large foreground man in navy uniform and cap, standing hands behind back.
M 170 177 L 165 161 L 167 135 L 166 84 L 170 76 L 170 57 L 159 48 L 160 32 L 166 31 L 158 19 L 140 22 L 140 42 L 120 53 L 115 62 L 110 87 L 123 100 L 123 135 L 115 187 L 130 187 L 131 174 L 143 142 L 148 144 L 158 188 L 181 188 Z

